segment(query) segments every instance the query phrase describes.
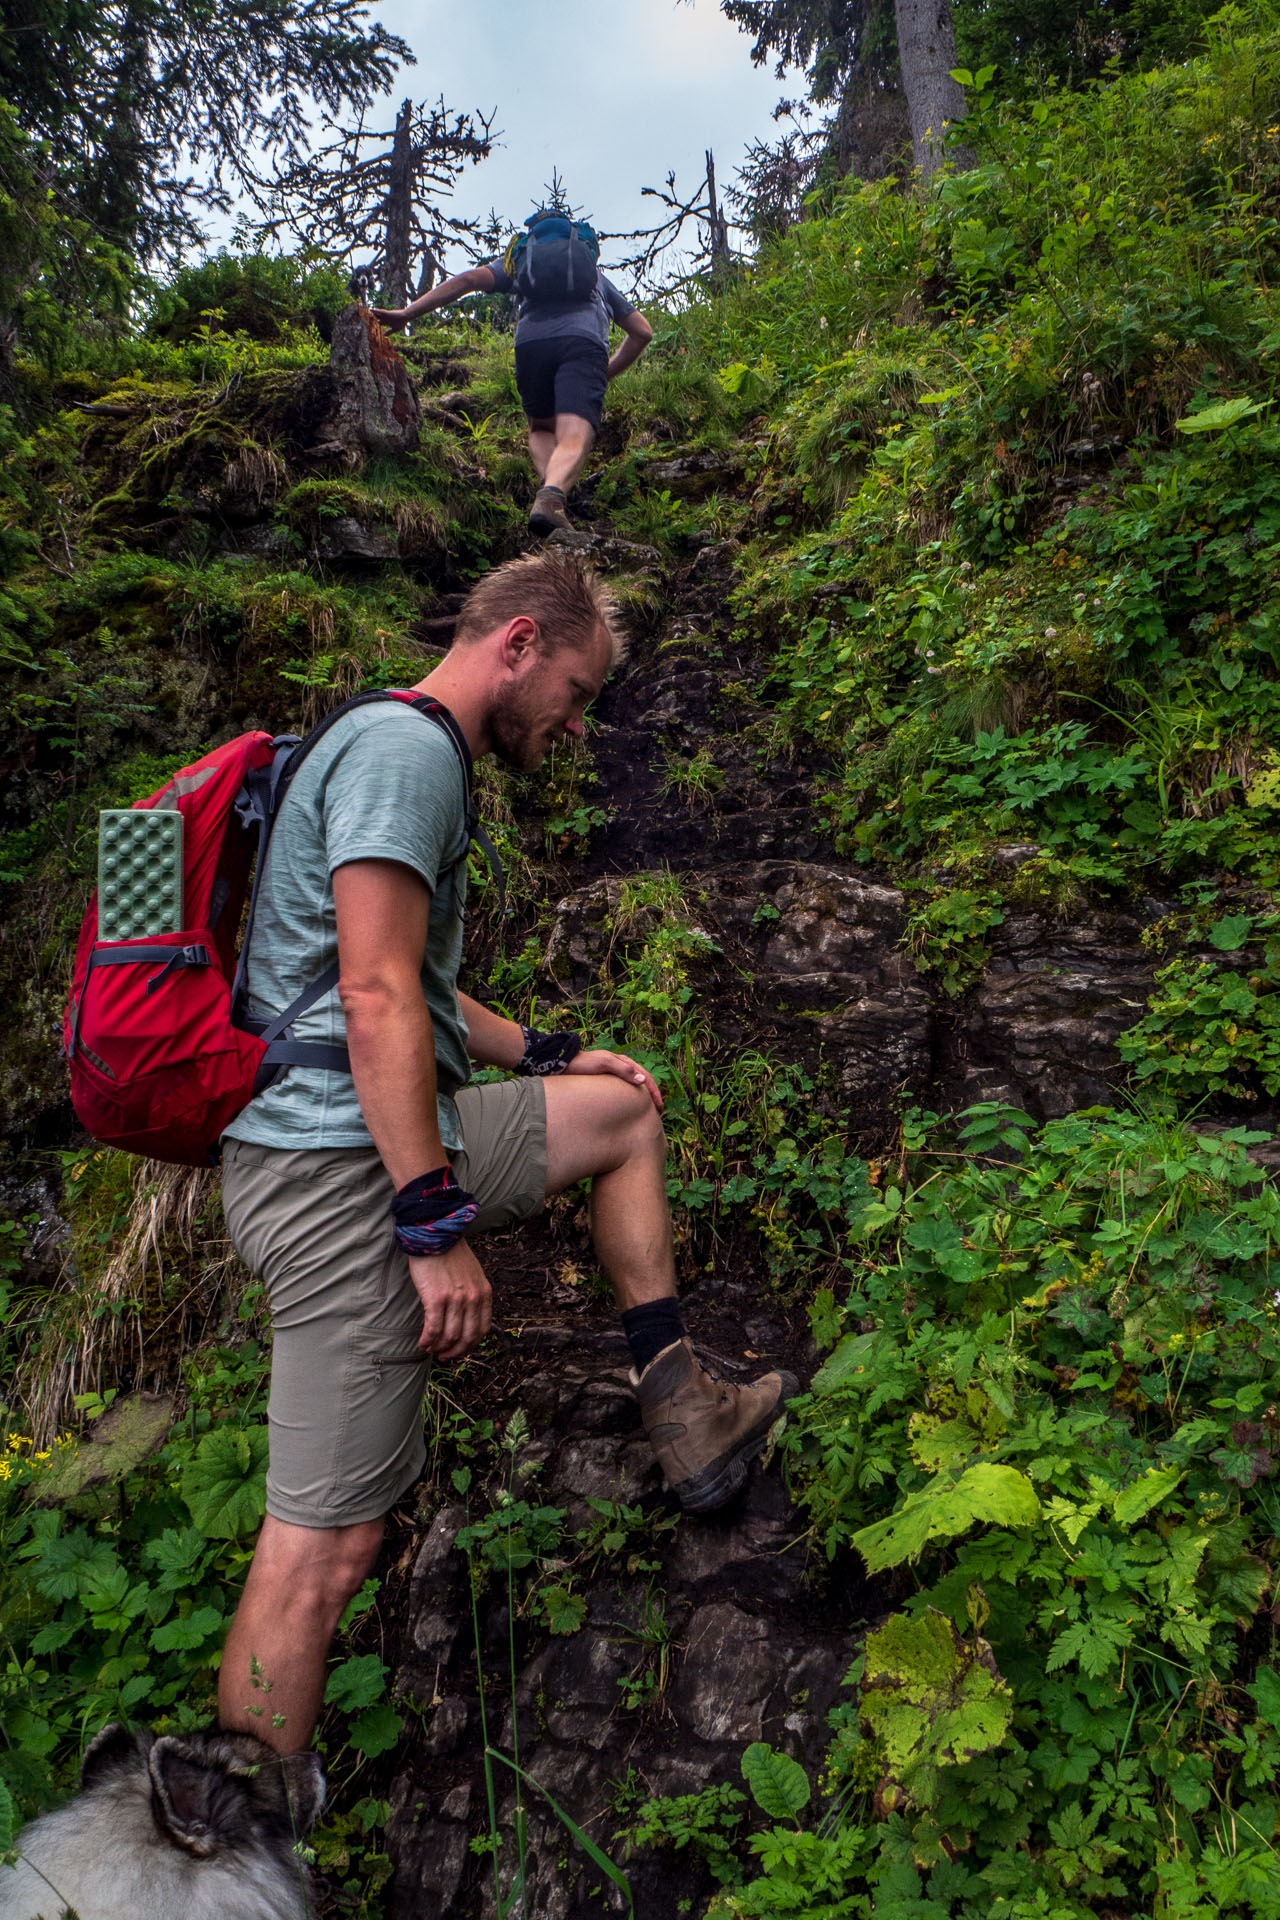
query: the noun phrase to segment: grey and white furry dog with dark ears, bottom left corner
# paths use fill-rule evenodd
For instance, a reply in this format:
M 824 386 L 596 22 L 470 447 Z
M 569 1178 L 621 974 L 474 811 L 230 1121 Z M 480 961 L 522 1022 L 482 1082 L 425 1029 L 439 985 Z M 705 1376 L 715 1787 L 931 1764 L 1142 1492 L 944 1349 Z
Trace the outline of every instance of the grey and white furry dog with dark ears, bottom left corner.
M 305 1920 L 296 1843 L 324 1805 L 315 1753 L 253 1734 L 130 1734 L 84 1749 L 81 1791 L 17 1836 L 0 1920 Z

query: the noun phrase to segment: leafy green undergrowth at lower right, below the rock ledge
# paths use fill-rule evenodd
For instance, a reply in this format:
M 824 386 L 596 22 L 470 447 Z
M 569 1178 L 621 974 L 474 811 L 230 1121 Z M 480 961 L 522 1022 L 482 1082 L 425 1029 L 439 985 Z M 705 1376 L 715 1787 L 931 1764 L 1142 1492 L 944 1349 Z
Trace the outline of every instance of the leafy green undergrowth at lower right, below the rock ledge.
M 783 1438 L 814 1546 L 867 1582 L 818 1791 L 748 1749 L 773 1824 L 718 1786 L 624 1828 L 700 1857 L 718 1920 L 1280 1912 L 1261 1139 L 908 1121 Z

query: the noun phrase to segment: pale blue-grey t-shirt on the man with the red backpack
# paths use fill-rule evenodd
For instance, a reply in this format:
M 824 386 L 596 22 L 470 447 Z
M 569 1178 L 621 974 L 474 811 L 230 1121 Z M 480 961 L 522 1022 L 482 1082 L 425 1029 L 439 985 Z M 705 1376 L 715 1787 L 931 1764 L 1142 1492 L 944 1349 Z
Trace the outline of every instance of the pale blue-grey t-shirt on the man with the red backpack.
M 409 707 L 357 707 L 317 741 L 271 835 L 249 945 L 249 1012 L 273 1018 L 338 958 L 334 868 L 399 860 L 432 893 L 422 993 L 436 1029 L 436 1069 L 470 1077 L 457 977 L 466 902 L 466 795 L 443 728 Z M 345 1043 L 338 991 L 294 1021 L 299 1041 Z M 439 1094 L 439 1137 L 459 1148 L 453 1100 Z M 368 1146 L 349 1073 L 290 1068 L 230 1123 L 257 1146 Z

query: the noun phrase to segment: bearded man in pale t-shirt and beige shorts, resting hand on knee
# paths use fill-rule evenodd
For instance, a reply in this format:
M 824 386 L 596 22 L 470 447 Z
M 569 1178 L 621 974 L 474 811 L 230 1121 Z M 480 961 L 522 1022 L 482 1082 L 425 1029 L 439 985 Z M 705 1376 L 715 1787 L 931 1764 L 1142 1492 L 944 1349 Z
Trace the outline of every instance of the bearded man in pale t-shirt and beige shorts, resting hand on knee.
M 424 1463 L 432 1357 L 489 1327 L 470 1235 L 591 1181 L 641 1419 L 681 1505 L 743 1484 L 796 1386 L 704 1369 L 676 1302 L 662 1096 L 626 1054 L 535 1033 L 459 993 L 470 758 L 532 772 L 620 659 L 616 609 L 576 555 L 510 561 L 468 595 L 453 649 L 399 699 L 313 737 L 278 808 L 248 950 L 248 1020 L 294 1058 L 223 1137 L 232 1240 L 274 1346 L 267 1521 L 221 1668 L 221 1718 L 311 1741 L 324 1663 L 384 1517 Z M 167 948 L 130 962 L 159 975 Z M 307 983 L 336 989 L 307 1000 Z M 113 970 L 104 970 L 113 975 Z M 157 989 L 163 995 L 175 975 Z M 274 1056 L 276 1060 L 280 1056 Z M 472 1064 L 510 1077 L 470 1087 Z

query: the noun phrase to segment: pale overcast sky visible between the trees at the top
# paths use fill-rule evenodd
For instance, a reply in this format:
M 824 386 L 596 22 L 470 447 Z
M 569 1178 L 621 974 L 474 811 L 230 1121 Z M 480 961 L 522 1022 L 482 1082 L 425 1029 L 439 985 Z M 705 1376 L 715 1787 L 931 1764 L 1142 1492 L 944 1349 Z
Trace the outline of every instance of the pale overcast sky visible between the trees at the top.
M 722 182 L 747 146 L 771 134 L 785 84 L 752 67 L 750 35 L 716 0 L 372 0 L 378 19 L 416 54 L 395 100 L 434 100 L 495 113 L 503 144 L 470 167 L 459 213 L 497 207 L 514 228 L 558 167 L 597 227 L 652 227 L 641 188 L 676 169 L 683 196 L 716 154 Z M 604 261 L 618 248 L 604 248 Z M 455 250 L 445 265 L 464 265 Z

